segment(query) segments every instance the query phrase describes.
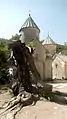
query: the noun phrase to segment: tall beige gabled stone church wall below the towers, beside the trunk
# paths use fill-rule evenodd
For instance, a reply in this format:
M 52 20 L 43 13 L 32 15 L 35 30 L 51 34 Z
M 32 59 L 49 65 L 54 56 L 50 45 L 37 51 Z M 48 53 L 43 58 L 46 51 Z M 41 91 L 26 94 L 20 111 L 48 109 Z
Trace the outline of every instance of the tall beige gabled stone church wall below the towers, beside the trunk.
M 39 41 L 35 41 L 34 62 L 42 80 L 52 79 L 52 58 L 47 56 L 46 49 Z

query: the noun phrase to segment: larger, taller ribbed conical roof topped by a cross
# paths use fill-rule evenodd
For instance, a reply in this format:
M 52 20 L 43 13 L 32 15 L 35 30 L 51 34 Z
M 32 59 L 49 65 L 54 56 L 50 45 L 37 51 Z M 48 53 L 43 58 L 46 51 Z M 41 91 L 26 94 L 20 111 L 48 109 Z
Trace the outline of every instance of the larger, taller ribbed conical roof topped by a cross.
M 37 28 L 40 32 L 40 29 L 38 28 L 38 26 L 35 24 L 34 20 L 32 19 L 31 15 L 29 14 L 28 19 L 24 22 L 24 24 L 22 25 L 21 29 L 19 30 L 19 32 L 22 31 L 23 28 Z

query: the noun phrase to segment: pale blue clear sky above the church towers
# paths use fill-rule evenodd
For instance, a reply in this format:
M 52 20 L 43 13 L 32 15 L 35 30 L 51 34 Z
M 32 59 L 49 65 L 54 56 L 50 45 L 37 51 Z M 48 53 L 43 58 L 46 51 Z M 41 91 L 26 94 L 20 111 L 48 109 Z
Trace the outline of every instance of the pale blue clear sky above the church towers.
M 0 0 L 0 38 L 11 38 L 29 16 L 40 28 L 40 40 L 48 32 L 56 42 L 67 42 L 67 0 Z

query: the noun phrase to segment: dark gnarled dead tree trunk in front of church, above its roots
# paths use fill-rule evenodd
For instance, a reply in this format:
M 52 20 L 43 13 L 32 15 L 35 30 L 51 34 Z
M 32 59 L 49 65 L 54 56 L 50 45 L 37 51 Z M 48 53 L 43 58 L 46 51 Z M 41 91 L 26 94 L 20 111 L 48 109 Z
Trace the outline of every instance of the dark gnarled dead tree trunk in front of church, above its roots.
M 20 41 L 17 41 L 13 44 L 12 50 L 13 56 L 15 57 L 17 63 L 16 75 L 19 81 L 19 85 L 22 84 L 25 91 L 32 93 L 30 71 L 37 77 L 37 79 L 40 79 L 40 75 L 34 65 L 33 57 L 25 44 L 22 44 Z M 18 85 L 15 86 L 16 88 L 13 87 L 13 91 L 15 89 L 14 95 L 17 95 L 15 92 L 18 93 L 17 86 Z

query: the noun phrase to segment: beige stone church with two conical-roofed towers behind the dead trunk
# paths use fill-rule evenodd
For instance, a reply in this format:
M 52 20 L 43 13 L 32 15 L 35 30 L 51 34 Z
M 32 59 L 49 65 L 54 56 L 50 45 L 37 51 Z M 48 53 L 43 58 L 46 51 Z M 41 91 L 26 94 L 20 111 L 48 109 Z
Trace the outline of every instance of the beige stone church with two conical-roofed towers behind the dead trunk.
M 35 50 L 33 58 L 42 80 L 51 80 L 52 54 L 56 50 L 55 43 L 48 35 L 48 38 L 44 40 L 43 44 L 41 44 L 41 42 L 39 41 L 40 29 L 38 28 L 30 14 L 27 20 L 21 26 L 19 32 L 22 42 L 28 44 L 29 42 L 33 41 L 34 43 Z

